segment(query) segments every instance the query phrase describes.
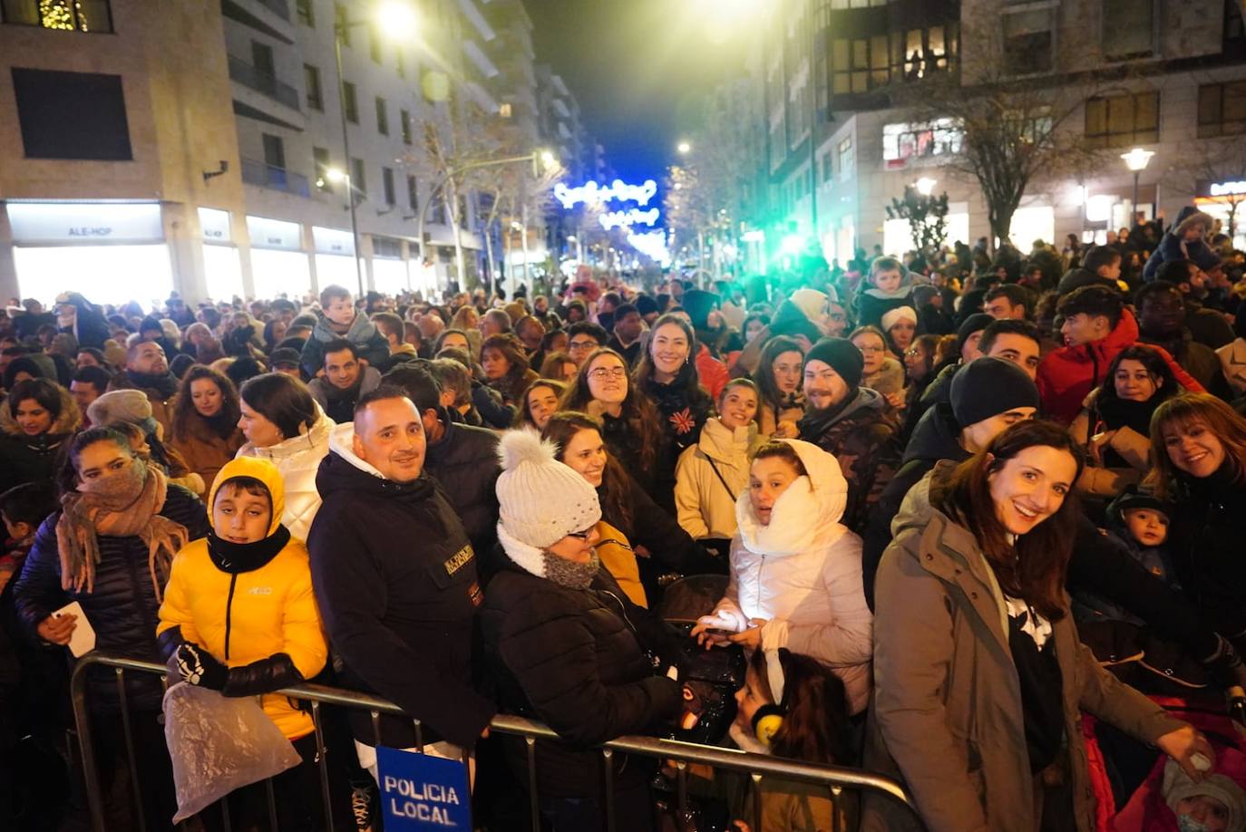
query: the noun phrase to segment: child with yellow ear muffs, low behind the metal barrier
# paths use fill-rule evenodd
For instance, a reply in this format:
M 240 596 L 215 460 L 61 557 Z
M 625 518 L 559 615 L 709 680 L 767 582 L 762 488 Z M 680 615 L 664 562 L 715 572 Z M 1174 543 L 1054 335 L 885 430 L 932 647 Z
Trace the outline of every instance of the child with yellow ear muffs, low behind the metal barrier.
M 844 683 L 816 659 L 786 648 L 754 650 L 735 701 L 738 710 L 730 736 L 740 749 L 819 765 L 854 762 Z M 751 790 L 740 791 L 751 796 Z M 845 791 L 836 808 L 837 828 L 856 828 L 857 796 Z M 831 813 L 825 787 L 763 777 L 761 825 L 765 832 L 836 828 Z M 736 816 L 751 818 L 751 803 L 739 807 Z M 735 821 L 735 828 L 750 832 L 744 821 Z

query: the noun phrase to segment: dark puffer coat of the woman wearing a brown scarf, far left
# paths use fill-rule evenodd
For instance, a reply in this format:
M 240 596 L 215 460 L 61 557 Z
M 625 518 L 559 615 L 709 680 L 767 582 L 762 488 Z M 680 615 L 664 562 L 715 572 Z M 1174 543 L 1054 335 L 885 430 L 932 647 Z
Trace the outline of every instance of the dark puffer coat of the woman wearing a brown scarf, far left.
M 159 512 L 186 527 L 188 539 L 207 537 L 208 514 L 199 498 L 181 486 L 169 483 L 164 507 Z M 44 521 L 35 534 L 35 546 L 17 578 L 14 598 L 17 614 L 39 639 L 39 623 L 70 602 L 82 604 L 82 612 L 96 635 L 96 649 L 146 661 L 159 661 L 156 624 L 159 600 L 147 564 L 147 544 L 138 536 L 100 536 L 100 563 L 95 570 L 95 592 L 61 589 L 61 558 L 56 549 L 56 523 L 61 512 Z M 159 710 L 163 690 L 155 676 L 126 674 L 130 707 Z M 96 710 L 117 707 L 117 684 L 110 671 L 92 674 L 91 704 Z

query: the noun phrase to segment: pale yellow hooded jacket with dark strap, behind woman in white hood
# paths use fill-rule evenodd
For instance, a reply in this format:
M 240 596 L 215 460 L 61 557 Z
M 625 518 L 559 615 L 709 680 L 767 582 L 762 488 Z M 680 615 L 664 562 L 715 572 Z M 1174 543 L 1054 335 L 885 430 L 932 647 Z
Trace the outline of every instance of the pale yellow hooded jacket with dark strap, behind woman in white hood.
M 694 538 L 735 537 L 735 499 L 749 489 L 749 457 L 763 442 L 758 426 L 726 428 L 705 420 L 700 440 L 675 463 L 675 512 Z

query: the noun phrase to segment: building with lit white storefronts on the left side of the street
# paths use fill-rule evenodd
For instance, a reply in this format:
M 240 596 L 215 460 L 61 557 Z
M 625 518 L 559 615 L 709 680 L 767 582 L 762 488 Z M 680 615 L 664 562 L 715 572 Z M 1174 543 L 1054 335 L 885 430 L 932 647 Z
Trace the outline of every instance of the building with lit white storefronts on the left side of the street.
M 0 0 L 0 293 L 445 286 L 425 125 L 471 108 L 535 144 L 532 24 L 518 0 L 437 0 L 397 40 L 373 6 Z M 477 209 L 464 194 L 468 273 Z

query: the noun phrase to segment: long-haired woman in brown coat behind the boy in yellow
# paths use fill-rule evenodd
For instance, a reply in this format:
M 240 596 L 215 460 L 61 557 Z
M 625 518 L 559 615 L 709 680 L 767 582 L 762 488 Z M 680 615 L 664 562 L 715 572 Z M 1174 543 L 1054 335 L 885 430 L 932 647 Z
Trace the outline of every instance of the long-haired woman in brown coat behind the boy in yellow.
M 204 485 L 211 485 L 217 471 L 245 445 L 239 418 L 238 389 L 227 375 L 202 364 L 186 371 L 173 406 L 169 443 L 182 455 L 187 470 L 203 477 Z

